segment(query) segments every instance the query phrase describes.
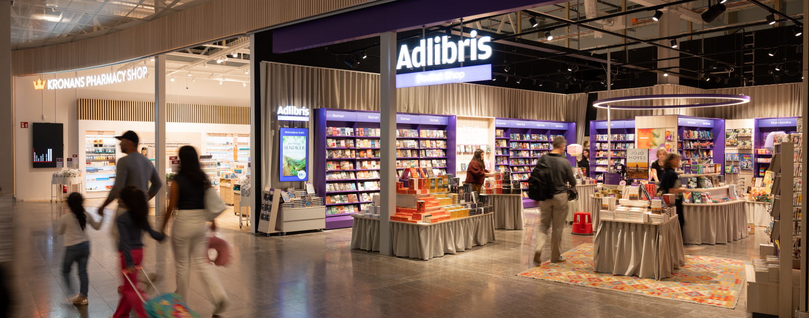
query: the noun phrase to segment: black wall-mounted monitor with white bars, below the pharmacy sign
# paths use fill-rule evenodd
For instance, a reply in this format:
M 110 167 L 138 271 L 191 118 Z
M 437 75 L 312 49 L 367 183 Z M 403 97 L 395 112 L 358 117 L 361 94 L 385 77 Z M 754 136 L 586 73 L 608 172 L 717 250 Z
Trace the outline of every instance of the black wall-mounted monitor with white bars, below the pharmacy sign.
M 56 168 L 63 155 L 62 123 L 32 123 L 32 163 L 34 168 Z

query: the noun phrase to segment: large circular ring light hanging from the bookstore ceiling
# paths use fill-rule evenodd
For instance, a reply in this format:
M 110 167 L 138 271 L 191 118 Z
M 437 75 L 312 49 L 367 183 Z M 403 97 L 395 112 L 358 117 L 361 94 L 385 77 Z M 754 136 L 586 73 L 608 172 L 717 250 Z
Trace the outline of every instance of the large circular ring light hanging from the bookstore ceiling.
M 698 99 L 727 99 L 725 102 L 719 103 L 701 103 L 701 104 L 688 104 L 688 105 L 664 105 L 664 106 L 621 106 L 612 105 L 612 103 L 621 103 L 639 100 L 652 100 L 652 99 L 668 99 L 668 98 L 698 98 Z M 697 108 L 697 107 L 719 107 L 739 105 L 743 103 L 750 103 L 750 96 L 747 95 L 734 95 L 734 94 L 660 94 L 660 95 L 638 95 L 626 96 L 616 98 L 599 99 L 593 103 L 593 107 L 607 108 L 610 104 L 611 109 L 617 110 L 646 110 L 646 109 L 670 109 L 670 108 Z

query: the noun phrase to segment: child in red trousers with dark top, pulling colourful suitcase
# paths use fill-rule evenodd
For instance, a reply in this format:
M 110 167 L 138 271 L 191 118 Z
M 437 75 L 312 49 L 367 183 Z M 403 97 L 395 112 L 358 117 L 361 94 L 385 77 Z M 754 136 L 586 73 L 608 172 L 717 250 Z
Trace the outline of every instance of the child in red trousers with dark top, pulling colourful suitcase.
M 121 299 L 118 300 L 118 307 L 115 309 L 114 318 L 129 317 L 129 312 L 133 309 L 141 318 L 146 318 L 146 311 L 143 303 L 138 297 L 143 291 L 140 287 L 133 286 L 138 282 L 138 269 L 143 260 L 143 232 L 148 232 L 157 241 L 163 241 L 166 235 L 156 232 L 149 225 L 146 216 L 149 214 L 149 206 L 146 202 L 146 195 L 135 186 L 127 186 L 121 190 L 121 201 L 126 206 L 126 211 L 116 218 L 118 228 L 118 252 L 121 253 L 121 271 L 123 287 L 120 288 Z M 127 281 L 129 277 L 129 282 Z M 135 291 L 138 288 L 138 291 Z

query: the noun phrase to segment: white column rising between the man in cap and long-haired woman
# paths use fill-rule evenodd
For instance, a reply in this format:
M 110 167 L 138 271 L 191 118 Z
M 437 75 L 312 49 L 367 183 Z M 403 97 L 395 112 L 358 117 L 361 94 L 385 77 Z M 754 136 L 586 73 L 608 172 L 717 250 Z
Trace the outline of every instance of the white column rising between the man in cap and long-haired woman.
M 155 57 L 155 168 L 163 182 L 166 182 L 166 56 Z M 168 185 L 155 196 L 155 216 L 166 211 L 166 190 Z

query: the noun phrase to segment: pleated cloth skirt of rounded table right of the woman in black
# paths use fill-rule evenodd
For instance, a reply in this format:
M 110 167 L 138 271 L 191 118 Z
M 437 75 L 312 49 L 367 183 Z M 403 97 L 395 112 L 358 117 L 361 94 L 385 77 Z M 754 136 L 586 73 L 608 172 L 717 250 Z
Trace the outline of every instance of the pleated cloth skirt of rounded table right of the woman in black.
M 683 203 L 685 244 L 726 244 L 748 237 L 745 200 L 725 203 Z

